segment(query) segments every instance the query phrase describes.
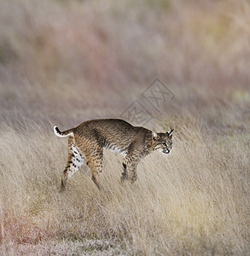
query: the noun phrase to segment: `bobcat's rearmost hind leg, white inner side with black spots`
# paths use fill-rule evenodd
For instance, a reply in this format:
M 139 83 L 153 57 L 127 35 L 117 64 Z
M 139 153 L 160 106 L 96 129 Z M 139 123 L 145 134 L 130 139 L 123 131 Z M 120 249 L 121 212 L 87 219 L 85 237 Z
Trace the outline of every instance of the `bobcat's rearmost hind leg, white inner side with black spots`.
M 67 181 L 73 177 L 79 167 L 84 164 L 84 157 L 73 143 L 73 138 L 68 139 L 68 159 L 67 165 L 61 175 L 61 191 L 66 188 Z

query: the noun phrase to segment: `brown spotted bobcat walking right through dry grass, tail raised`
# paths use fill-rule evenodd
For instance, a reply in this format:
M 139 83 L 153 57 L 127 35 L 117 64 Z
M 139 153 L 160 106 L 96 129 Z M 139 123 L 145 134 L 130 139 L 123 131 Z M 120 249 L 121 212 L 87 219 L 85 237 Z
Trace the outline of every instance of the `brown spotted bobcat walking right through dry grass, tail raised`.
M 60 131 L 54 127 L 58 137 L 69 137 L 67 166 L 61 176 L 61 190 L 79 167 L 90 167 L 92 180 L 100 189 L 103 148 L 125 155 L 121 181 L 137 180 L 137 165 L 143 157 L 160 149 L 168 154 L 172 149 L 172 131 L 157 133 L 143 127 L 133 126 L 122 119 L 94 119 L 85 121 L 75 128 Z

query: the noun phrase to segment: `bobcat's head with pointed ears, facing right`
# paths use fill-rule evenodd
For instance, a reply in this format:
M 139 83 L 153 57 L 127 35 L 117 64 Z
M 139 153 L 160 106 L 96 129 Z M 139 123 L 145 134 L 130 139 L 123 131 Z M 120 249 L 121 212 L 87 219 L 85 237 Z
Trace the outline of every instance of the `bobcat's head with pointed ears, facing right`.
M 162 153 L 168 154 L 172 148 L 172 131 L 166 133 L 157 133 L 152 131 L 153 151 L 160 149 Z

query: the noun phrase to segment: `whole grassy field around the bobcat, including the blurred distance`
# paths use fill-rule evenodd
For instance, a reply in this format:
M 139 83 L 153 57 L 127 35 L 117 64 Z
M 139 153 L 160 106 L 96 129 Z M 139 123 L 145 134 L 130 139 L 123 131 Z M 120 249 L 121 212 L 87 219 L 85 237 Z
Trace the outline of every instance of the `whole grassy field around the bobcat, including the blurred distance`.
M 0 255 L 250 254 L 248 1 L 0 0 Z M 155 111 L 142 92 L 172 90 Z M 171 154 L 104 152 L 59 193 L 66 130 L 143 103 Z

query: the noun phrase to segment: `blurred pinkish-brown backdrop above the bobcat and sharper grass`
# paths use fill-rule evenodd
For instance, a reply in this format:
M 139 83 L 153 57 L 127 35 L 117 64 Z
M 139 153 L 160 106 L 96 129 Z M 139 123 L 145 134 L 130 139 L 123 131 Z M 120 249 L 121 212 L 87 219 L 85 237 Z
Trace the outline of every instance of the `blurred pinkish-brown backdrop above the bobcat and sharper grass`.
M 1 125 L 117 118 L 159 78 L 162 119 L 242 132 L 249 67 L 247 0 L 0 0 Z

